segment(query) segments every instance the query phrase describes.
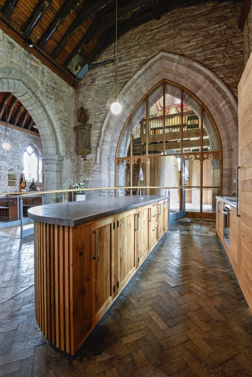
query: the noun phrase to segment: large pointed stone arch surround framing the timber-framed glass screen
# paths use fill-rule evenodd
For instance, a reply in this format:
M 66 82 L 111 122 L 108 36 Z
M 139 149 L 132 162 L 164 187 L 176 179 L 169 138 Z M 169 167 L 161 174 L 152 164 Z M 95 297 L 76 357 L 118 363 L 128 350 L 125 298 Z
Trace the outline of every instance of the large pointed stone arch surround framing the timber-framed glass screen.
M 223 150 L 223 194 L 230 193 L 238 162 L 237 102 L 226 85 L 209 69 L 186 57 L 166 52 L 159 52 L 151 58 L 124 86 L 120 93 L 123 112 L 119 116 L 108 113 L 105 118 L 96 158 L 101 167 L 101 184 L 114 185 L 115 152 L 122 127 L 136 104 L 163 79 L 194 93 L 213 116 Z

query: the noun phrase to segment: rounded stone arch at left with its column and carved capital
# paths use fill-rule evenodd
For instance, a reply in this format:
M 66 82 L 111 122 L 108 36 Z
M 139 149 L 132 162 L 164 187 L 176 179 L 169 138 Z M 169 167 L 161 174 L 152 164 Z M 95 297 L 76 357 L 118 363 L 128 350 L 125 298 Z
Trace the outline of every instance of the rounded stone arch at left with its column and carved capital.
M 46 94 L 25 71 L 0 66 L 0 92 L 11 92 L 31 114 L 41 138 L 45 189 L 61 188 L 65 141 L 58 116 Z

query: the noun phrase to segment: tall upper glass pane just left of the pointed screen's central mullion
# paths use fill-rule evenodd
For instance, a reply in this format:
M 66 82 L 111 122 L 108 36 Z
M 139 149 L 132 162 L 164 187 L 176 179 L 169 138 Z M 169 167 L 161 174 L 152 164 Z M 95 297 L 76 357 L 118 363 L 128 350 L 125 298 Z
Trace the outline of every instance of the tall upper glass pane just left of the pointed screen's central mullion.
M 148 154 L 163 154 L 163 84 L 148 95 Z

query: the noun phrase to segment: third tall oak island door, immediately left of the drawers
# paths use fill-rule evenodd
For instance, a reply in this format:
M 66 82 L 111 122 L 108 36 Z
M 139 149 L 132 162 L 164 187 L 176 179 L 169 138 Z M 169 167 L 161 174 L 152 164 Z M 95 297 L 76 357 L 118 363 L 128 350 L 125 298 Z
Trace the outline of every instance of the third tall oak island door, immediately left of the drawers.
M 149 252 L 148 242 L 148 211 L 149 206 L 137 208 L 135 215 L 136 234 L 136 267 L 142 264 Z

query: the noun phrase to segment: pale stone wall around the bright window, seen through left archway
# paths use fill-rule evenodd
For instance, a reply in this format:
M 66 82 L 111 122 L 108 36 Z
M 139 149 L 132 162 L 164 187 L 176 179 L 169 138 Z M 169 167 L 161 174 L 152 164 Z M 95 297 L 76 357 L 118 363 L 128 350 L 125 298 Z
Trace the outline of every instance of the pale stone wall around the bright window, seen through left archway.
M 0 192 L 18 192 L 20 174 L 23 168 L 23 153 L 28 144 L 33 144 L 42 153 L 42 143 L 38 136 L 29 133 L 24 133 L 19 130 L 8 128 L 12 143 L 11 149 L 5 150 L 0 148 Z M 2 142 L 5 134 L 5 127 L 0 125 L 0 140 Z M 17 174 L 17 186 L 8 185 L 9 173 Z M 43 170 L 42 170 L 43 173 Z M 43 175 L 43 174 L 42 174 Z M 30 182 L 26 181 L 26 188 L 29 187 Z M 40 189 L 43 189 L 43 184 L 37 184 Z

